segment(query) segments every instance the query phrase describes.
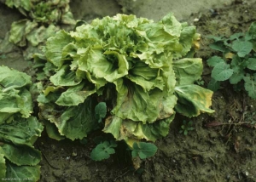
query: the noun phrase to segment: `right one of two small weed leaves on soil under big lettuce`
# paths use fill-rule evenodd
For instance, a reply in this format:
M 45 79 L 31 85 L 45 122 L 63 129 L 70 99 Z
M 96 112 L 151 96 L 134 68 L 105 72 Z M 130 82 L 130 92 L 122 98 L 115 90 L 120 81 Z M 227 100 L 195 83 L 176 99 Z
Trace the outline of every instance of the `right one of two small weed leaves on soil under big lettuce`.
M 157 147 L 154 144 L 146 142 L 135 142 L 131 151 L 131 156 L 139 156 L 141 159 L 154 156 L 157 151 Z

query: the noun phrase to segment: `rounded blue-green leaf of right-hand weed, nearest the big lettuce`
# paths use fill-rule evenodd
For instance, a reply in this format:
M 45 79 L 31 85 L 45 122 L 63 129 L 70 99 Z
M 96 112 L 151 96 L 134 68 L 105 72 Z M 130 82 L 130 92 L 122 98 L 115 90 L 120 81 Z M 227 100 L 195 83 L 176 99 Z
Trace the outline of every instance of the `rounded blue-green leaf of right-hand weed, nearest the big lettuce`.
M 212 69 L 212 78 L 216 81 L 228 80 L 233 74 L 233 70 L 230 69 L 230 65 L 224 62 L 220 62 Z

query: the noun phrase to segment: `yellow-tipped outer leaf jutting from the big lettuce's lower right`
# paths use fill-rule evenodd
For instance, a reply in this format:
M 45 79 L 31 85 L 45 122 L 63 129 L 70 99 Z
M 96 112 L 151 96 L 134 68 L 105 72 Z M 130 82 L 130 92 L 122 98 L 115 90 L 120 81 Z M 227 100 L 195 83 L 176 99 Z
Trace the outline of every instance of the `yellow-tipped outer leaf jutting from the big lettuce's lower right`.
M 212 105 L 212 91 L 198 85 L 183 85 L 175 88 L 177 105 L 175 110 L 186 117 L 196 117 L 201 112 L 214 112 Z

